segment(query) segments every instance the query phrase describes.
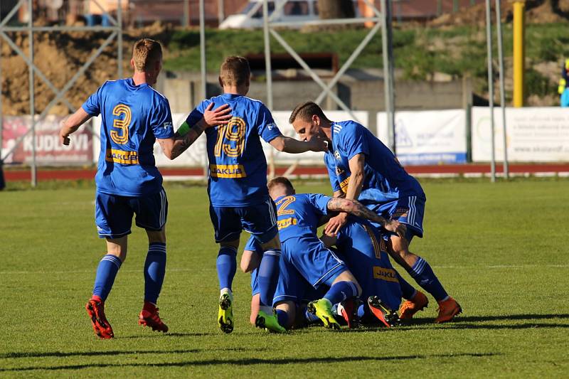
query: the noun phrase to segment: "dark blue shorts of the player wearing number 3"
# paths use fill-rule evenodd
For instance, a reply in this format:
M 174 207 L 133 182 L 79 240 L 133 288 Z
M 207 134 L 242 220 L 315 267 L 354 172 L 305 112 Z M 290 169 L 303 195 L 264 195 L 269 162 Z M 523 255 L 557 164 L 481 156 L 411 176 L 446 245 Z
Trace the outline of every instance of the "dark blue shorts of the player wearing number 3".
M 100 238 L 119 238 L 131 233 L 132 216 L 139 228 L 158 231 L 164 228 L 168 199 L 164 188 L 147 196 L 118 196 L 95 193 L 95 223 Z

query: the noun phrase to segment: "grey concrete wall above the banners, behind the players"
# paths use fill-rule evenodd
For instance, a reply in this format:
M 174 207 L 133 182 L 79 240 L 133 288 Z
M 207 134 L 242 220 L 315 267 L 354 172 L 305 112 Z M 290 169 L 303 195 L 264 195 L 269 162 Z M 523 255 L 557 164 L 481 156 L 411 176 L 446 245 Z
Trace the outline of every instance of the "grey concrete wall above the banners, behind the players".
M 172 112 L 190 112 L 203 99 L 201 79 L 198 73 L 176 73 L 165 75 L 158 83 L 158 89 L 169 99 Z M 321 87 L 312 80 L 290 80 L 272 82 L 273 108 L 292 110 L 299 102 L 316 99 Z M 341 80 L 334 92 L 352 110 L 381 112 L 385 110 L 383 80 Z M 216 75 L 208 75 L 209 97 L 220 95 L 221 88 Z M 267 103 L 267 86 L 263 82 L 251 82 L 249 97 Z M 461 109 L 472 102 L 470 80 L 450 82 L 402 82 L 395 83 L 396 110 L 446 110 Z M 324 110 L 340 108 L 330 98 L 323 102 Z M 376 117 L 370 115 L 369 127 L 375 129 Z

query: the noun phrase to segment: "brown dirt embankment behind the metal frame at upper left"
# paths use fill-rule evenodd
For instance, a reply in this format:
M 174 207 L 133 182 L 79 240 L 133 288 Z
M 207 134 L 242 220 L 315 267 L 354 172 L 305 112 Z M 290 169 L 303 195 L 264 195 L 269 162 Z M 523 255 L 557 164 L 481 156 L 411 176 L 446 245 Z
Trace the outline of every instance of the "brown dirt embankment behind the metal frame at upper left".
M 16 46 L 28 55 L 28 33 L 8 33 Z M 92 53 L 105 42 L 110 33 L 34 33 L 34 63 L 58 90 L 73 78 Z M 164 26 L 150 26 L 123 34 L 123 76 L 130 75 L 129 58 L 132 43 L 138 38 L 150 37 L 158 41 L 168 41 L 169 29 Z M 9 115 L 30 113 L 30 94 L 28 65 L 6 41 L 1 43 L 2 113 Z M 116 79 L 118 75 L 117 39 L 110 43 L 89 68 L 79 76 L 65 98 L 74 106 L 81 104 L 105 80 Z M 55 97 L 55 92 L 39 75 L 34 75 L 34 97 L 36 112 L 41 113 Z M 68 114 L 68 107 L 58 102 L 50 114 Z

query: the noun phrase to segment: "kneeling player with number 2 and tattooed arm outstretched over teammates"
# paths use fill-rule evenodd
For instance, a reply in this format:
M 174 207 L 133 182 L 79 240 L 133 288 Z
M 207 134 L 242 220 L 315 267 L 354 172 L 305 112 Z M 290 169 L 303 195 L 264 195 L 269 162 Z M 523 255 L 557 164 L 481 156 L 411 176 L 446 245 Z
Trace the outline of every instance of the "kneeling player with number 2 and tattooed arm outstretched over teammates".
M 318 239 L 320 218 L 329 211 L 343 211 L 381 223 L 394 233 L 405 233 L 405 226 L 397 221 L 385 220 L 358 201 L 320 194 L 296 195 L 287 178 L 272 179 L 268 187 L 270 196 L 277 205 L 283 253 L 282 272 L 273 299 L 279 324 L 291 327 L 307 292 L 325 286 L 329 289 L 324 297 L 311 301 L 307 309 L 326 328 L 339 329 L 339 323 L 332 313 L 332 304 L 359 297 L 361 287 L 344 262 Z M 242 268 L 249 268 L 245 266 L 246 264 L 242 265 Z

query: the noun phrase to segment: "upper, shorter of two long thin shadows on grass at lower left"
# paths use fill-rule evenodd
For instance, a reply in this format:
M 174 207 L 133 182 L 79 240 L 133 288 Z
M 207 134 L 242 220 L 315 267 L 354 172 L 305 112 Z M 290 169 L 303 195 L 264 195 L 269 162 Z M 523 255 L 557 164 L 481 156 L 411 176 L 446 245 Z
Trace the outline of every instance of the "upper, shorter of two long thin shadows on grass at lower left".
M 187 350 L 105 350 L 105 351 L 46 351 L 46 352 L 21 352 L 21 353 L 5 353 L 0 354 L 0 359 L 6 358 L 48 358 L 48 357 L 73 357 L 73 356 L 117 356 L 132 354 L 187 354 L 187 353 L 203 353 L 204 351 L 262 351 L 260 348 L 192 348 Z

